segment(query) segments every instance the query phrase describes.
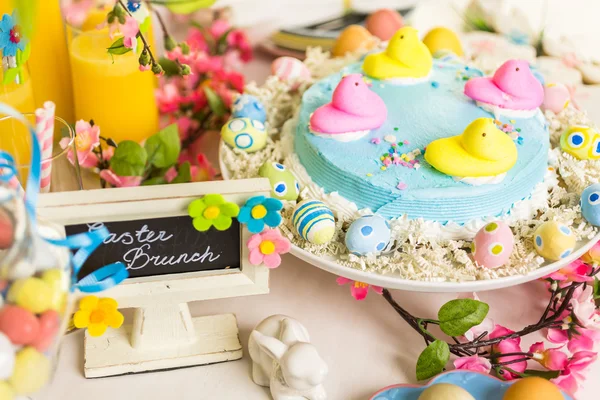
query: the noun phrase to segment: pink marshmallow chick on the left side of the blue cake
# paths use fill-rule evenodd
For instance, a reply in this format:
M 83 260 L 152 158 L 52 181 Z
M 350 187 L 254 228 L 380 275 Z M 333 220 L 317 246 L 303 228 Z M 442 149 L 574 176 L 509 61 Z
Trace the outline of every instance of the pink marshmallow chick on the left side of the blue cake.
M 310 129 L 332 136 L 379 128 L 387 118 L 387 107 L 371 91 L 361 74 L 342 78 L 331 103 L 319 107 L 310 117 Z

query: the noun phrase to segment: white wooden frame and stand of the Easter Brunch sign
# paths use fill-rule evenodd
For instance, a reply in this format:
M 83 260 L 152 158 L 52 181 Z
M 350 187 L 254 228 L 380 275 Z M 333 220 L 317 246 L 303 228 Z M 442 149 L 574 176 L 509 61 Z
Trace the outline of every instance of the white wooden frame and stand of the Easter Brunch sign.
M 254 195 L 268 196 L 265 178 L 168 186 L 49 193 L 40 196 L 40 218 L 62 225 L 133 221 L 187 215 L 193 200 L 219 193 L 242 206 Z M 191 219 L 190 219 L 191 223 Z M 248 262 L 250 233 L 241 228 L 241 268 L 159 275 L 125 280 L 100 296 L 119 308 L 135 308 L 132 325 L 86 332 L 86 378 L 167 370 L 242 357 L 233 314 L 192 318 L 187 303 L 269 292 L 269 272 Z

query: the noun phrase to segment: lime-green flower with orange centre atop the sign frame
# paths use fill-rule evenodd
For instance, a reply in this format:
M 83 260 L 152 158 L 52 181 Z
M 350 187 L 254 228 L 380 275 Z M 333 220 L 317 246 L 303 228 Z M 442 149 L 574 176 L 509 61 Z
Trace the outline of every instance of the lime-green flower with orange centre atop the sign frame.
M 226 231 L 231 227 L 232 218 L 239 213 L 240 207 L 226 202 L 220 194 L 207 194 L 192 201 L 188 207 L 188 214 L 194 219 L 194 228 L 200 232 L 206 232 L 211 226 Z

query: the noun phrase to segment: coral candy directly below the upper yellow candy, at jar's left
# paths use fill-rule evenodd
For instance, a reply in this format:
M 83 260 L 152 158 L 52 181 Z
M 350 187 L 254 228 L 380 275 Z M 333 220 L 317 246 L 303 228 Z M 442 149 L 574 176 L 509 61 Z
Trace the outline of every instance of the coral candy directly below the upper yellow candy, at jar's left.
M 7 305 L 0 310 L 0 332 L 3 332 L 13 344 L 29 344 L 38 337 L 40 324 L 28 310 Z

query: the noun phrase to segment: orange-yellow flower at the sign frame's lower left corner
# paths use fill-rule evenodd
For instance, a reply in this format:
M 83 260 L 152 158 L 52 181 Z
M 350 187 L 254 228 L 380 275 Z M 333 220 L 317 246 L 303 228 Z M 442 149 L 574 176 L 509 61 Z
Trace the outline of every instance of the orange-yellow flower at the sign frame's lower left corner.
M 73 316 L 73 324 L 79 329 L 87 328 L 90 336 L 102 336 L 107 327 L 117 329 L 123 325 L 123 314 L 117 307 L 115 299 L 86 296 L 79 302 L 79 310 Z

